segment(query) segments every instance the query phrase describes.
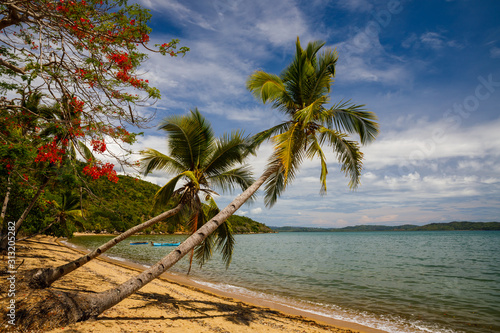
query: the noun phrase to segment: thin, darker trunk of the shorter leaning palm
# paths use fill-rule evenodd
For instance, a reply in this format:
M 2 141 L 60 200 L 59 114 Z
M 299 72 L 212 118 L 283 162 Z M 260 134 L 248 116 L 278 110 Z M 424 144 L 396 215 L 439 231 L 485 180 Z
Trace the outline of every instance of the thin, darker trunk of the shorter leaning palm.
M 89 254 L 84 255 L 84 256 L 82 256 L 82 257 L 80 257 L 72 262 L 61 265 L 59 267 L 49 267 L 49 268 L 40 268 L 40 269 L 31 270 L 28 273 L 30 286 L 32 288 L 40 288 L 40 289 L 49 287 L 52 283 L 54 283 L 54 281 L 59 280 L 60 278 L 62 278 L 66 274 L 71 273 L 75 269 L 85 265 L 90 260 L 97 258 L 99 255 L 106 252 L 107 250 L 109 250 L 110 248 L 112 248 L 113 246 L 115 246 L 116 244 L 121 242 L 122 240 L 132 236 L 133 234 L 135 234 L 137 232 L 140 232 L 140 231 L 154 225 L 157 222 L 160 222 L 160 221 L 162 221 L 170 216 L 173 216 L 173 215 L 179 213 L 183 206 L 184 206 L 184 204 L 180 203 L 175 208 L 170 209 L 166 212 L 163 212 L 160 215 L 155 216 L 152 219 L 150 219 L 142 224 L 136 225 L 135 227 L 128 229 L 124 233 L 116 236 L 115 238 L 111 239 L 107 243 L 101 245 L 96 250 L 94 250 L 94 251 L 90 252 Z

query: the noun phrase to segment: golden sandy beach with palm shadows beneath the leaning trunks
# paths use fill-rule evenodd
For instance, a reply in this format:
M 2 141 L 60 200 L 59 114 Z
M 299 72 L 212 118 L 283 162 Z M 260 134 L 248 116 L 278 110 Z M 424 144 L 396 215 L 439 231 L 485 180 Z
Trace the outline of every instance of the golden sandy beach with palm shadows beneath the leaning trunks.
M 80 256 L 54 237 L 39 236 L 16 246 L 19 272 L 55 266 Z M 5 258 L 4 258 L 5 259 Z M 2 260 L 2 270 L 5 260 Z M 103 257 L 68 274 L 55 290 L 100 292 L 136 275 L 140 266 Z M 5 329 L 7 298 L 2 279 L 1 310 Z M 18 291 L 17 295 L 29 295 Z M 29 297 L 29 296 L 24 296 Z M 19 300 L 17 300 L 19 301 Z M 189 279 L 164 274 L 136 294 L 102 313 L 97 320 L 71 324 L 49 332 L 382 332 L 355 323 L 315 316 L 259 299 L 200 288 Z

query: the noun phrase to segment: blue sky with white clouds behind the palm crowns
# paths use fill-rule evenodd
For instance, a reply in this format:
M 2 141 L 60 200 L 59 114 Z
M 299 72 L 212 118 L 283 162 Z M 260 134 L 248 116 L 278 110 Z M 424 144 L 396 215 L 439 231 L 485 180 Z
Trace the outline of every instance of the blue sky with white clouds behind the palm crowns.
M 327 155 L 306 160 L 272 208 L 262 193 L 237 214 L 270 226 L 345 227 L 500 221 L 500 2 L 497 0 L 139 0 L 153 15 L 153 43 L 172 38 L 184 57 L 151 55 L 144 78 L 162 99 L 153 128 L 133 149 L 166 151 L 154 128 L 197 107 L 217 135 L 255 134 L 283 120 L 245 88 L 255 70 L 279 74 L 303 46 L 322 40 L 339 62 L 331 100 L 377 114 L 380 134 L 363 146 L 355 191 Z M 272 147 L 248 160 L 256 178 Z M 164 185 L 169 175 L 146 180 Z M 216 198 L 220 207 L 239 192 Z

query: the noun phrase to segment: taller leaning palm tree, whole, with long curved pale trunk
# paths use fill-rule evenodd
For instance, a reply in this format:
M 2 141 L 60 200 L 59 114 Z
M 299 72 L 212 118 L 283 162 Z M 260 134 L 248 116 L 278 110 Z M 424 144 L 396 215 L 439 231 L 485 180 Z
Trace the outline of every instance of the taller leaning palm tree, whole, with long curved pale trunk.
M 323 144 L 333 148 L 342 170 L 350 177 L 350 186 L 359 184 L 362 153 L 348 135 L 359 135 L 361 143 L 374 140 L 378 134 L 376 116 L 362 106 L 347 102 L 326 106 L 337 55 L 331 49 L 318 54 L 323 45 L 323 42 L 309 43 L 304 50 L 297 39 L 295 58 L 281 75 L 257 71 L 248 79 L 247 86 L 255 96 L 263 102 L 272 102 L 274 108 L 288 116 L 286 122 L 255 136 L 256 145 L 266 139 L 274 144 L 274 153 L 262 176 L 174 251 L 141 274 L 98 294 L 66 295 L 71 297 L 71 302 L 60 298 L 65 305 L 72 304 L 64 318 L 76 321 L 96 317 L 157 278 L 200 245 L 266 182 L 266 203 L 272 205 L 293 180 L 304 157 L 319 156 L 321 188 L 326 191 Z

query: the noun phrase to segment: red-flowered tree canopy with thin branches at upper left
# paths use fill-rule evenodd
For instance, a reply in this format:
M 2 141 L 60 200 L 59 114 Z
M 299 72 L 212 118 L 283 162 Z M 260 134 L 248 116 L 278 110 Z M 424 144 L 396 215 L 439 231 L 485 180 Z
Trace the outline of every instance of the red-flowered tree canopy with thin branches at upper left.
M 124 148 L 135 140 L 126 125 L 149 120 L 136 107 L 160 98 L 138 71 L 146 52 L 188 51 L 177 50 L 178 40 L 149 46 L 150 18 L 124 0 L 2 1 L 0 172 L 20 163 L 57 165 L 70 150 L 87 157 L 86 146 L 113 155 L 108 141 Z M 57 112 L 42 112 L 47 105 Z M 113 165 L 86 160 L 85 174 L 117 180 Z

